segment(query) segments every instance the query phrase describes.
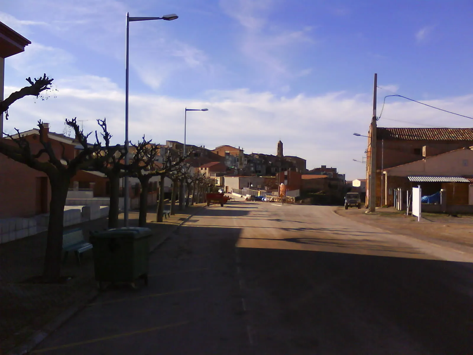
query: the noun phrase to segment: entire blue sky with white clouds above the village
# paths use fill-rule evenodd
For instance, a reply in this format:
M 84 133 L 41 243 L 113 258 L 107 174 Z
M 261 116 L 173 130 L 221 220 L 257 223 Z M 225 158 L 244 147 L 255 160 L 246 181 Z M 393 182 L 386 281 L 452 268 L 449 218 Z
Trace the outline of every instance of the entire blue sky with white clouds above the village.
M 5 94 L 47 73 L 55 97 L 24 99 L 5 131 L 38 119 L 107 117 L 124 139 L 125 14 L 175 21 L 130 24 L 130 138 L 307 159 L 362 178 L 378 73 L 378 114 L 393 92 L 473 116 L 471 1 L 16 0 L 0 21 L 31 40 L 6 59 Z M 394 120 L 394 121 L 393 121 Z M 405 121 L 399 122 L 399 121 Z M 468 127 L 469 119 L 388 98 L 380 126 Z

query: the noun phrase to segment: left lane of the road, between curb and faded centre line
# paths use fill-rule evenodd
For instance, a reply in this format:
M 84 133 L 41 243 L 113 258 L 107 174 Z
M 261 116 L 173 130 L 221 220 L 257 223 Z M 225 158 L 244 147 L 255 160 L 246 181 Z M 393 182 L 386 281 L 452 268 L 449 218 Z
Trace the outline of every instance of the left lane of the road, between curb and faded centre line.
M 227 226 L 237 215 L 219 204 L 196 213 L 150 255 L 148 286 L 111 285 L 31 354 L 254 354 L 235 249 L 241 229 Z

